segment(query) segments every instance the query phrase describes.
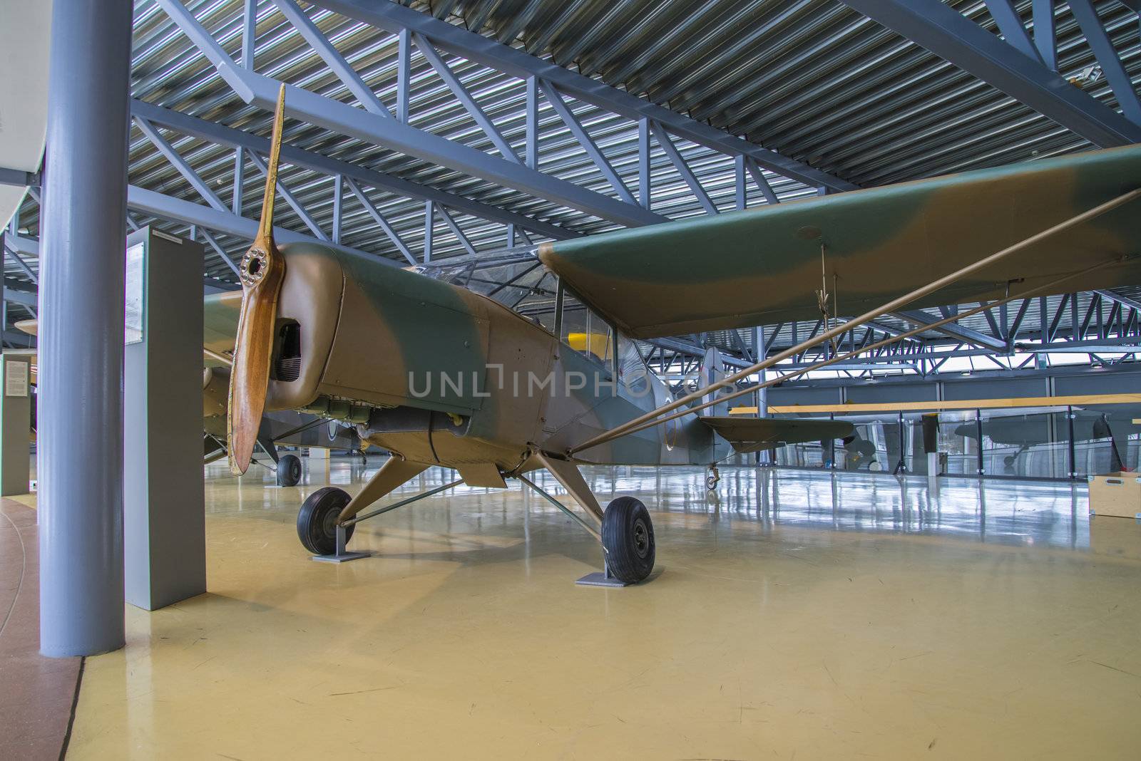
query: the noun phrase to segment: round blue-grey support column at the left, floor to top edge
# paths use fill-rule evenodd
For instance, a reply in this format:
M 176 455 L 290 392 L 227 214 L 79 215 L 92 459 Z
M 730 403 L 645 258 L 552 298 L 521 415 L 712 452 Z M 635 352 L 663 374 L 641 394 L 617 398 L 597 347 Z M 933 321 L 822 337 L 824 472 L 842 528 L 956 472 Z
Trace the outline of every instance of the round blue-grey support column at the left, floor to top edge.
M 123 646 L 131 3 L 55 0 L 40 273 L 40 652 Z

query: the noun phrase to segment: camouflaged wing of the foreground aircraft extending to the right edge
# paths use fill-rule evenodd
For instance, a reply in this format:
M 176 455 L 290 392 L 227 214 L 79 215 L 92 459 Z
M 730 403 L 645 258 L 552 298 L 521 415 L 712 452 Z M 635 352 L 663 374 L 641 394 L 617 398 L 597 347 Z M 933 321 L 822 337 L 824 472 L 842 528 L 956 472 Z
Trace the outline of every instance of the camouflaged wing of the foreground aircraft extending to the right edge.
M 1141 145 L 545 243 L 539 257 L 634 338 L 860 314 L 1141 187 Z M 1005 295 L 1133 255 L 1141 201 L 1054 235 L 912 306 Z M 1065 291 L 1141 283 L 1141 260 Z M 1017 292 L 1017 291 L 1015 291 Z M 830 298 L 831 302 L 831 298 Z

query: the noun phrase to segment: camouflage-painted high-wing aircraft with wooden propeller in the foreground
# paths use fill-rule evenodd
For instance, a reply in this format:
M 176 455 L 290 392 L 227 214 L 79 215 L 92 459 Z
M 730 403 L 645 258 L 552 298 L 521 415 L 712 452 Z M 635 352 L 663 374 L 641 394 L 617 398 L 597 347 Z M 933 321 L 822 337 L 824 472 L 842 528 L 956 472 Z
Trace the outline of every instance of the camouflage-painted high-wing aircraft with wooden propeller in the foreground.
M 513 477 L 536 490 L 526 474 L 547 468 L 586 519 L 543 496 L 601 540 L 607 573 L 641 581 L 655 559 L 649 513 L 631 497 L 604 510 L 578 466 L 713 465 L 851 426 L 696 414 L 751 393 L 736 384 L 807 345 L 674 399 L 632 338 L 815 318 L 830 302 L 872 308 L 822 343 L 901 303 L 1141 281 L 1141 147 L 1131 147 L 543 244 L 539 259 L 559 278 L 543 324 L 332 247 L 278 249 L 284 97 L 258 237 L 240 265 L 228 444 L 244 473 L 262 412 L 291 409 L 350 422 L 393 453 L 355 497 L 326 488 L 301 506 L 299 537 L 318 555 L 342 553 L 357 522 L 395 506 L 363 508 L 434 465 L 459 472 L 450 485 Z M 812 296 L 822 280 L 831 297 Z

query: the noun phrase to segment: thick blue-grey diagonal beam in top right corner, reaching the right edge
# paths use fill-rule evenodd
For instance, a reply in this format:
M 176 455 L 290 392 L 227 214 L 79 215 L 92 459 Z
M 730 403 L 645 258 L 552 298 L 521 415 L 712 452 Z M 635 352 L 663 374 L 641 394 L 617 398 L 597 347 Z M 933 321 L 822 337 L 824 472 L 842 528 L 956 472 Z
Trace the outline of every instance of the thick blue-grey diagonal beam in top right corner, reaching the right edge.
M 1004 42 L 941 0 L 843 0 L 1101 147 L 1141 142 L 1141 125 Z

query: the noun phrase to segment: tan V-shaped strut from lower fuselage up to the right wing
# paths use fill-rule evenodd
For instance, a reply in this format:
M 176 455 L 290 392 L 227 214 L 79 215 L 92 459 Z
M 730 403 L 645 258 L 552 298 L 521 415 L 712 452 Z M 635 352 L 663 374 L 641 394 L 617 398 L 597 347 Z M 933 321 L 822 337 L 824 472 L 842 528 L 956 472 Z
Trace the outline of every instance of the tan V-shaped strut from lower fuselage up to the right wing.
M 934 293 L 936 291 L 939 291 L 940 288 L 944 288 L 944 287 L 946 287 L 946 286 L 955 283 L 956 280 L 961 280 L 961 279 L 963 279 L 963 278 L 965 278 L 965 277 L 968 277 L 970 275 L 973 275 L 974 272 L 978 272 L 979 270 L 982 270 L 982 269 L 986 269 L 987 267 L 990 267 L 995 262 L 998 262 L 1000 260 L 1005 259 L 1006 256 L 1010 256 L 1011 254 L 1014 254 L 1014 253 L 1020 252 L 1020 251 L 1022 251 L 1025 248 L 1034 246 L 1035 244 L 1041 243 L 1042 240 L 1049 238 L 1052 235 L 1057 235 L 1058 232 L 1062 232 L 1063 230 L 1067 230 L 1067 229 L 1069 229 L 1071 227 L 1075 227 L 1077 224 L 1082 224 L 1084 222 L 1087 222 L 1087 221 L 1090 221 L 1090 220 L 1092 220 L 1092 219 L 1094 219 L 1097 216 L 1100 216 L 1100 215 L 1104 214 L 1106 212 L 1112 211 L 1114 208 L 1117 208 L 1118 206 L 1120 206 L 1123 204 L 1126 204 L 1126 203 L 1128 203 L 1128 202 L 1131 202 L 1131 201 L 1133 201 L 1133 199 L 1135 199 L 1138 197 L 1141 197 L 1141 189 L 1131 190 L 1128 193 L 1122 194 L 1122 195 L 1117 196 L 1116 198 L 1107 201 L 1103 204 L 1099 204 L 1098 206 L 1094 206 L 1093 208 L 1091 208 L 1089 211 L 1085 211 L 1085 212 L 1083 212 L 1083 213 L 1081 213 L 1081 214 L 1078 214 L 1076 216 L 1071 216 L 1071 218 L 1069 218 L 1068 220 L 1066 220 L 1063 222 L 1059 222 L 1058 224 L 1054 224 L 1051 228 L 1047 228 L 1047 229 L 1045 229 L 1045 230 L 1043 230 L 1041 232 L 1037 232 L 1037 234 L 1030 236 L 1029 238 L 1020 240 L 1019 243 L 1015 243 L 1012 246 L 1008 246 L 1006 248 L 1003 248 L 1002 251 L 998 251 L 998 252 L 996 252 L 994 254 L 990 254 L 989 256 L 986 256 L 985 259 L 980 259 L 979 261 L 974 262 L 973 264 L 968 264 L 966 267 L 964 267 L 964 268 L 962 268 L 960 270 L 956 270 L 956 271 L 954 271 L 954 272 L 952 272 L 949 275 L 945 275 L 944 277 L 941 277 L 941 278 L 939 278 L 937 280 L 933 280 L 933 281 L 929 283 L 928 285 L 925 285 L 925 286 L 923 286 L 921 288 L 916 288 L 915 291 L 912 291 L 911 293 L 906 293 L 903 296 L 899 296 L 898 298 L 893 298 L 892 301 L 888 302 L 887 304 L 884 304 L 882 306 L 877 306 L 876 309 L 867 311 L 864 314 L 860 314 L 859 317 L 853 318 L 853 319 L 851 319 L 851 320 L 849 320 L 847 322 L 841 322 L 836 327 L 831 328 L 830 330 L 825 330 L 819 336 L 815 336 L 812 338 L 809 338 L 808 341 L 804 341 L 804 342 L 802 342 L 800 344 L 796 344 L 795 346 L 792 346 L 791 349 L 786 349 L 785 351 L 783 351 L 783 352 L 780 352 L 778 354 L 775 354 L 774 357 L 770 357 L 770 358 L 768 358 L 766 360 L 756 362 L 755 365 L 751 365 L 750 367 L 746 367 L 743 370 L 738 370 L 737 373 L 734 373 L 733 375 L 730 375 L 730 376 L 728 376 L 728 377 L 726 377 L 726 378 L 723 378 L 721 380 L 718 380 L 717 383 L 712 383 L 712 384 L 705 386 L 704 388 L 698 388 L 697 391 L 695 391 L 693 393 L 686 394 L 685 396 L 681 396 L 679 399 L 675 399 L 672 402 L 663 404 L 662 407 L 658 407 L 657 409 L 650 410 L 649 412 L 646 412 L 645 415 L 640 415 L 640 416 L 638 416 L 638 417 L 636 417 L 636 418 L 633 418 L 631 420 L 628 420 L 626 423 L 623 423 L 622 425 L 615 426 L 614 428 L 610 428 L 609 431 L 605 431 L 605 432 L 598 434 L 597 436 L 588 439 L 586 441 L 584 441 L 581 444 L 578 444 L 577 447 L 573 447 L 569 450 L 567 450 L 567 453 L 568 455 L 574 455 L 574 453 L 581 452 L 581 451 L 583 451 L 585 449 L 590 449 L 591 447 L 597 447 L 598 444 L 604 444 L 604 443 L 606 443 L 608 441 L 613 441 L 614 439 L 617 439 L 620 436 L 624 436 L 626 434 L 634 433 L 636 431 L 642 431 L 642 429 L 652 427 L 654 425 L 658 425 L 661 423 L 665 423 L 667 419 L 674 419 L 677 417 L 681 417 L 682 415 L 688 415 L 689 412 L 694 412 L 696 410 L 704 409 L 705 407 L 709 407 L 710 404 L 709 403 L 698 404 L 696 407 L 690 407 L 690 408 L 686 409 L 685 411 L 682 411 L 682 412 L 680 412 L 678 415 L 671 416 L 670 418 L 656 419 L 656 418 L 659 418 L 662 415 L 665 415 L 666 412 L 671 412 L 671 411 L 678 409 L 679 407 L 683 407 L 686 404 L 689 404 L 690 402 L 699 401 L 702 399 L 702 396 L 711 394 L 714 391 L 717 391 L 718 388 L 730 388 L 730 387 L 733 387 L 733 385 L 735 383 L 737 383 L 738 380 L 742 380 L 742 379 L 748 377 L 750 375 L 753 375 L 754 373 L 759 373 L 760 370 L 763 370 L 763 369 L 766 369 L 768 367 L 771 367 L 771 366 L 776 365 L 777 362 L 784 361 L 784 360 L 788 359 L 790 357 L 793 357 L 794 354 L 798 354 L 798 353 L 800 353 L 800 352 L 802 352 L 802 351 L 804 351 L 807 349 L 810 349 L 810 347 L 812 347 L 812 346 L 815 346 L 817 344 L 824 343 L 826 341 L 832 341 L 833 338 L 835 338 L 835 337 L 837 337 L 837 336 L 847 333 L 848 330 L 851 330 L 855 327 L 858 327 L 858 326 L 863 325 L 864 322 L 867 322 L 868 320 L 874 320 L 875 318 L 881 317 L 881 316 L 885 314 L 887 312 L 895 311 L 895 310 L 899 309 L 900 306 L 906 305 L 908 302 L 912 302 L 912 301 L 915 301 L 916 298 L 922 298 L 922 297 L 924 297 L 926 295 L 930 295 L 930 294 Z M 1106 267 L 1106 265 L 1109 265 L 1109 264 L 1116 264 L 1116 263 L 1118 263 L 1118 262 L 1117 261 L 1104 262 L 1104 263 L 1099 264 L 1097 267 L 1089 268 L 1086 271 L 1090 271 L 1090 270 L 1093 270 L 1093 269 L 1100 269 L 1101 267 Z M 1084 273 L 1085 272 L 1074 272 L 1071 275 L 1065 276 L 1063 278 L 1061 278 L 1061 280 L 1069 280 L 1069 279 L 1076 278 L 1078 275 L 1084 275 Z M 1053 287 L 1053 286 L 1057 285 L 1057 283 L 1058 281 L 1055 280 L 1054 283 L 1051 283 L 1051 284 L 1047 284 L 1047 285 L 1051 286 L 1051 287 Z M 1034 292 L 1043 291 L 1045 287 L 1046 286 L 1043 286 L 1043 287 L 1039 287 L 1039 288 L 1035 288 L 1033 292 L 1028 292 L 1028 293 L 1034 293 Z M 1025 296 L 1027 294 L 1022 294 L 1022 295 Z M 1001 302 L 995 302 L 995 303 L 1005 303 L 1006 301 L 1010 301 L 1010 297 L 1006 297 L 1006 298 L 1002 300 Z M 994 305 L 994 304 L 988 304 L 987 308 L 989 308 L 992 305 Z M 969 313 L 974 313 L 977 311 L 982 311 L 982 309 L 986 309 L 986 308 L 981 308 L 980 306 L 978 310 L 973 310 L 972 312 L 969 312 Z M 884 345 L 885 343 L 895 343 L 896 341 L 899 341 L 899 339 L 905 338 L 905 337 L 909 337 L 909 336 L 915 335 L 917 333 L 922 333 L 923 330 L 930 330 L 932 327 L 936 327 L 937 325 L 942 325 L 942 324 L 950 322 L 950 321 L 954 321 L 954 320 L 960 320 L 963 317 L 966 317 L 966 314 L 957 314 L 954 318 L 948 318 L 946 320 L 942 320 L 940 322 L 936 322 L 933 325 L 923 326 L 922 329 L 916 328 L 915 330 L 911 330 L 911 332 L 901 334 L 899 336 L 895 336 L 890 341 L 880 342 L 879 344 L 875 344 L 873 346 L 868 346 L 868 347 L 863 349 L 860 351 L 868 351 L 868 350 L 877 347 L 880 345 Z M 832 358 L 831 361 L 824 362 L 823 365 L 831 365 L 832 362 L 840 361 L 841 359 L 850 358 L 853 353 L 860 353 L 860 352 L 849 352 L 848 354 L 843 354 L 843 355 L 840 355 L 840 357 L 834 357 L 834 358 Z M 823 365 L 818 365 L 818 366 L 815 366 L 815 367 L 811 367 L 811 368 L 807 368 L 803 371 L 808 371 L 809 369 L 817 369 L 818 367 L 823 367 Z M 774 383 L 776 383 L 776 380 L 774 380 Z M 766 384 L 766 385 L 768 385 L 768 384 Z M 748 391 L 750 392 L 751 391 L 755 391 L 755 388 L 756 388 L 756 386 L 752 386 L 752 387 L 748 388 Z M 742 394 L 738 393 L 737 395 L 742 395 Z M 720 396 L 715 401 L 717 402 L 723 402 L 728 398 L 730 398 L 730 396 Z

